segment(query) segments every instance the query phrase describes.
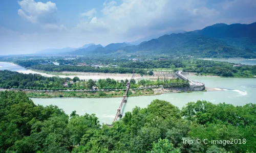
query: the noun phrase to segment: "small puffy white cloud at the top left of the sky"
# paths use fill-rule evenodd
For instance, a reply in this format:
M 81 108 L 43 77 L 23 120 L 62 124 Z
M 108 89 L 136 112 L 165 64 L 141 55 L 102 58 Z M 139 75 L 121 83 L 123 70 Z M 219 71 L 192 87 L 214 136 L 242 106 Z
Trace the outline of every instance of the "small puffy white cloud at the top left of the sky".
M 57 20 L 57 7 L 55 3 L 35 2 L 34 0 L 18 1 L 20 9 L 18 15 L 32 23 L 38 23 L 44 28 L 55 30 L 66 29 Z

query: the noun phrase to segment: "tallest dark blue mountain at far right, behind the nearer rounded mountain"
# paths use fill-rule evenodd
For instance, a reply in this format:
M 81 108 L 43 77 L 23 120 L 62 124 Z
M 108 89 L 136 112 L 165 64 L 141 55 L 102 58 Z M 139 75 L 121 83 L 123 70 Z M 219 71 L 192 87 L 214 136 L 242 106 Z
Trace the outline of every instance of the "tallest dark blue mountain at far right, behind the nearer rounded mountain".
M 191 33 L 217 38 L 233 47 L 256 52 L 256 22 L 230 25 L 218 23 Z

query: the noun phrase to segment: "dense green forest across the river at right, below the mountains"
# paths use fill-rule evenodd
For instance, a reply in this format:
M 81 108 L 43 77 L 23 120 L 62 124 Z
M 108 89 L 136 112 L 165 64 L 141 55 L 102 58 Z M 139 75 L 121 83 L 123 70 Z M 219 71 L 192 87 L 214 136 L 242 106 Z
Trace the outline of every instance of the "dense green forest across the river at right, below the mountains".
M 253 78 L 256 75 L 256 66 L 242 65 L 233 66 L 228 62 L 218 62 L 210 60 L 184 60 L 169 59 L 166 61 L 146 61 L 146 62 L 126 62 L 120 64 L 121 67 L 134 68 L 167 68 L 176 71 L 182 68 L 184 72 L 197 72 L 201 74 L 213 74 L 222 77 L 244 77 Z

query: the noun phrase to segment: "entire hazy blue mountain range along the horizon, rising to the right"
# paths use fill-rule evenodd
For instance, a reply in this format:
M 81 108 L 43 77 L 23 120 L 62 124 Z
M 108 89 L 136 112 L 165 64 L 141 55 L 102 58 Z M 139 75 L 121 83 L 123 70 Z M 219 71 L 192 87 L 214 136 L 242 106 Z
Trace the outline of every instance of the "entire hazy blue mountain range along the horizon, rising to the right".
M 95 54 L 168 54 L 195 57 L 256 58 L 256 22 L 251 24 L 217 23 L 202 30 L 173 33 L 156 39 L 130 43 L 112 43 L 103 47 L 88 44 L 80 48 L 63 48 L 55 51 L 60 55 Z M 57 53 L 59 51 L 59 53 Z

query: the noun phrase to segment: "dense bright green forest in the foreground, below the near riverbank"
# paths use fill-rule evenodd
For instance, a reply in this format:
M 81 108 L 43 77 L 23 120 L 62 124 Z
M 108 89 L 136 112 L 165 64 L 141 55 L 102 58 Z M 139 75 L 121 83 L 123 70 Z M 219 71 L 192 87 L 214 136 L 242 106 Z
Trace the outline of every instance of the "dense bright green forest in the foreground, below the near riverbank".
M 252 152 L 255 110 L 255 104 L 207 101 L 180 110 L 155 99 L 109 127 L 94 114 L 67 115 L 56 106 L 34 105 L 23 92 L 5 91 L 0 92 L 0 152 Z M 206 144 L 204 139 L 234 141 Z

